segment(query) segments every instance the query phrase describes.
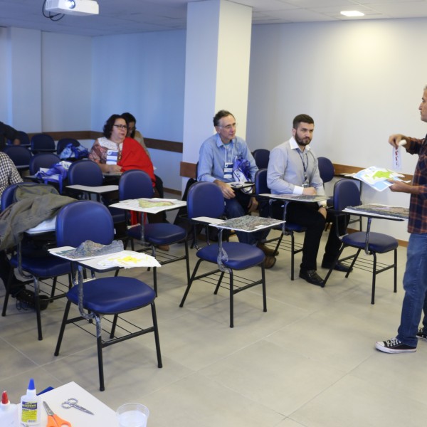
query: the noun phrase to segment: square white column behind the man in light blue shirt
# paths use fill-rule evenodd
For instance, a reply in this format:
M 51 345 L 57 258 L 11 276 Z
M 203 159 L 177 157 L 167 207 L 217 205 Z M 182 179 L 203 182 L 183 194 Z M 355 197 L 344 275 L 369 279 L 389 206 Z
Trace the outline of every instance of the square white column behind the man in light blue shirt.
M 187 7 L 182 159 L 196 163 L 218 110 L 231 111 L 238 135 L 246 137 L 252 8 L 227 0 Z

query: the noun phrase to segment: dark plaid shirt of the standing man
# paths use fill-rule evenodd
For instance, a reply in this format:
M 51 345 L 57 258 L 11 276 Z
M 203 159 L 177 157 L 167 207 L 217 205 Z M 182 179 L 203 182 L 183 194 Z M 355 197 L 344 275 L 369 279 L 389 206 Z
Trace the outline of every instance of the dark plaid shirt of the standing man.
M 406 152 L 418 154 L 418 163 L 412 184 L 419 186 L 419 194 L 411 194 L 409 204 L 409 233 L 427 233 L 427 136 L 424 139 L 406 139 Z

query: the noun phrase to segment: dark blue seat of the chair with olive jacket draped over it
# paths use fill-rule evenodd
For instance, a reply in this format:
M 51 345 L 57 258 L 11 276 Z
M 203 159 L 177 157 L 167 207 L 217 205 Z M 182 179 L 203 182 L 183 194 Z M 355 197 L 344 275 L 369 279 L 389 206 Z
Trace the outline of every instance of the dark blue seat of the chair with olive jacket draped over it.
M 11 265 L 18 268 L 18 258 L 16 255 L 11 258 Z M 42 257 L 23 257 L 22 268 L 24 271 L 35 275 L 38 278 L 52 278 L 71 272 L 71 263 L 64 258 L 53 255 Z

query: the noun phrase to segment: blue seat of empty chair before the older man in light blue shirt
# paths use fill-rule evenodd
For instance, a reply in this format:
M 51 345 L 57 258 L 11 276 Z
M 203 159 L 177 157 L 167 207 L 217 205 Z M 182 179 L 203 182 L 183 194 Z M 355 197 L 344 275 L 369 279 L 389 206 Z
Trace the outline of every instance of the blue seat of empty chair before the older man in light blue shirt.
M 228 260 L 223 260 L 223 265 L 232 270 L 244 270 L 262 263 L 265 255 L 260 248 L 239 242 L 224 242 L 223 249 L 228 255 Z M 217 263 L 218 244 L 208 245 L 199 249 L 196 255 L 202 260 Z

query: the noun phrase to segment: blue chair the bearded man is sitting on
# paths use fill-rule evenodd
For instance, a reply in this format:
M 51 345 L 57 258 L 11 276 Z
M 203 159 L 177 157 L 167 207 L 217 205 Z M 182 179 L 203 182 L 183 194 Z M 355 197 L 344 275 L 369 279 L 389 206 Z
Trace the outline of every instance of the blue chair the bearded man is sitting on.
M 271 191 L 267 186 L 267 169 L 259 169 L 255 174 L 255 194 L 257 196 L 258 201 L 260 203 L 273 203 L 274 199 L 264 199 L 260 197 L 260 194 L 270 194 Z M 268 209 L 268 216 L 270 216 L 270 209 Z M 283 218 L 285 219 L 285 218 Z M 279 238 L 270 239 L 265 243 L 270 243 L 272 241 L 278 241 L 275 247 L 275 253 L 278 252 L 278 248 L 280 248 L 280 243 L 282 243 L 283 236 L 290 236 L 290 280 L 294 280 L 295 273 L 295 254 L 302 252 L 302 246 L 297 247 L 295 244 L 295 233 L 304 233 L 307 228 L 300 226 L 299 224 L 290 223 L 289 221 L 285 222 L 285 230 L 283 231 L 283 227 L 279 228 L 282 230 L 282 234 Z

